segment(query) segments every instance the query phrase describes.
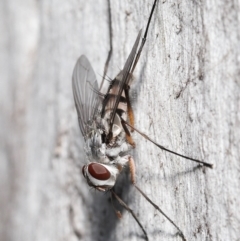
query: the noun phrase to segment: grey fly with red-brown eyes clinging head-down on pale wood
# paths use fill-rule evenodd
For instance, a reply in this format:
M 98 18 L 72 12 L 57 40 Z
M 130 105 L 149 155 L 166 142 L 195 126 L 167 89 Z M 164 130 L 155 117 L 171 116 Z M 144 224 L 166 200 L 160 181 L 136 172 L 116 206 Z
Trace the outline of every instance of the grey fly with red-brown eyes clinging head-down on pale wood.
M 182 240 L 186 241 L 181 229 L 136 185 L 134 159 L 131 155 L 126 154 L 135 147 L 131 131 L 136 131 L 164 151 L 212 168 L 212 164 L 165 148 L 142 133 L 134 125 L 129 90 L 133 80 L 134 69 L 147 39 L 148 28 L 156 4 L 157 0 L 153 3 L 142 40 L 142 30 L 140 30 L 123 69 L 110 82 L 105 94 L 100 92 L 94 70 L 86 56 L 82 55 L 77 60 L 73 70 L 72 88 L 78 123 L 86 143 L 85 151 L 89 161 L 89 164 L 82 167 L 82 174 L 89 186 L 99 191 L 109 191 L 131 213 L 142 229 L 145 239 L 148 240 L 147 233 L 135 213 L 114 192 L 114 185 L 118 176 L 128 166 L 134 187 L 175 226 Z M 140 40 L 141 44 L 139 46 Z M 119 214 L 118 211 L 116 212 Z

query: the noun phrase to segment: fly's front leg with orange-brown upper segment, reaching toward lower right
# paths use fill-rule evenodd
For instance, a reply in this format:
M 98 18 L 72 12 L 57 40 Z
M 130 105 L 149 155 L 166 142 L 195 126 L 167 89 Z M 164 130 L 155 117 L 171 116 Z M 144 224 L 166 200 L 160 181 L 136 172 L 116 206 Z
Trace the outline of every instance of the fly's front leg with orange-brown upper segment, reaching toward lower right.
M 143 197 L 154 207 L 156 208 L 177 230 L 183 241 L 187 241 L 183 232 L 181 229 L 159 208 L 157 204 L 155 204 L 137 185 L 136 185 L 136 179 L 135 179 L 135 163 L 133 158 L 130 156 L 128 158 L 128 165 L 130 169 L 130 175 L 131 175 L 131 182 L 134 185 L 134 187 L 143 195 Z

